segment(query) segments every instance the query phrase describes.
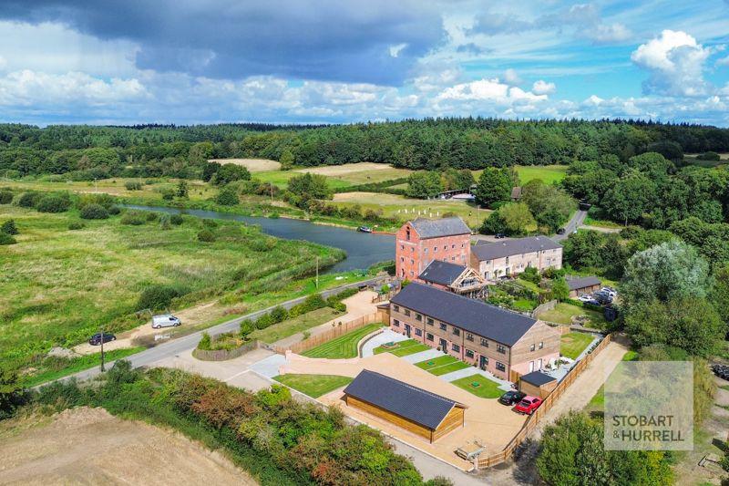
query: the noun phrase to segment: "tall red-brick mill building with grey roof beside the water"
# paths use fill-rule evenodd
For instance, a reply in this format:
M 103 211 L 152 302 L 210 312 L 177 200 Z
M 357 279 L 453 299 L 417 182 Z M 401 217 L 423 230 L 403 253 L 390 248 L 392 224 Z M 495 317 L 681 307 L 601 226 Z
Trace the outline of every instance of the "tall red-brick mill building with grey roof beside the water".
M 399 278 L 417 280 L 426 267 L 439 260 L 468 265 L 471 230 L 458 217 L 408 221 L 395 234 L 395 272 Z

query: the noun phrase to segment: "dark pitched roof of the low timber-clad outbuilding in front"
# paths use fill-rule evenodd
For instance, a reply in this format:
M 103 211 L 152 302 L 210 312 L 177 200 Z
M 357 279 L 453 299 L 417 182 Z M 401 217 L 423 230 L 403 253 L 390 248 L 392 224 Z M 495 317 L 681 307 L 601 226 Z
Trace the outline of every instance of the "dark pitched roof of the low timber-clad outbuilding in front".
M 368 369 L 344 388 L 344 393 L 412 420 L 428 429 L 437 429 L 457 401 L 417 388 Z

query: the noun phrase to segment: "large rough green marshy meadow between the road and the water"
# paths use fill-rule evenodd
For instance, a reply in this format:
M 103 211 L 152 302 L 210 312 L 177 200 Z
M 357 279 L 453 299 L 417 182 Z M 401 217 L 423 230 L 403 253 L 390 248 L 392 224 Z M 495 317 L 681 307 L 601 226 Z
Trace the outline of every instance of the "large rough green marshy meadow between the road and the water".
M 0 206 L 0 221 L 10 218 L 20 234 L 17 244 L 0 246 L 0 359 L 9 367 L 26 366 L 51 346 L 83 342 L 101 325 L 119 332 L 147 322 L 149 315 L 133 313 L 153 284 L 186 293 L 172 310 L 225 293 L 244 309 L 293 284 L 315 255 L 341 258 L 334 249 L 278 240 L 241 223 L 221 223 L 211 230 L 217 241 L 201 243 L 202 221 L 187 216 L 169 230 L 154 221 L 124 225 L 114 216 L 69 231 L 69 222 L 80 221 L 76 212 Z

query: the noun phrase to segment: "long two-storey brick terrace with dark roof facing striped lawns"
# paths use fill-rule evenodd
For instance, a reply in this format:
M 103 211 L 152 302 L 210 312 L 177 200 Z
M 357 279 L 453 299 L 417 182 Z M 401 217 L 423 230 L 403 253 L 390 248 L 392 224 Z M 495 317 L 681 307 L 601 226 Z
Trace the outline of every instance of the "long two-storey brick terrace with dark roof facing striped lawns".
M 390 328 L 509 381 L 560 357 L 560 333 L 544 322 L 431 285 L 390 300 Z

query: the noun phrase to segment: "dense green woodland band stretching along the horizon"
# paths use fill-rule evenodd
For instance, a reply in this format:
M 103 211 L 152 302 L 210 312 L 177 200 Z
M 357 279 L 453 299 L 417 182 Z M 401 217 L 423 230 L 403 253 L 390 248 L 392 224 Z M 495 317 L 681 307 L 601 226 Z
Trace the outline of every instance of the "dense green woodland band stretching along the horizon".
M 368 160 L 407 169 L 483 169 L 572 160 L 621 161 L 657 151 L 729 151 L 729 129 L 623 120 L 409 119 L 332 126 L 191 127 L 0 125 L 0 172 L 196 178 L 210 158 L 257 157 L 286 165 Z

